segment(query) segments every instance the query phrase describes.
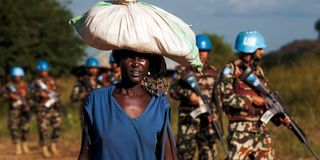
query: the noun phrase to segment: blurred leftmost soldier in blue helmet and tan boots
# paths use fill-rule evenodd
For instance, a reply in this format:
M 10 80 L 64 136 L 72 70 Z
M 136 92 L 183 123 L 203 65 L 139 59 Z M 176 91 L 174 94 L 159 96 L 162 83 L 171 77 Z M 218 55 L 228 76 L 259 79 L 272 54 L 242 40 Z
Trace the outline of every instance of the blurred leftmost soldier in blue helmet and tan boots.
M 12 80 L 4 86 L 4 96 L 10 100 L 8 128 L 16 154 L 22 151 L 29 153 L 27 135 L 31 117 L 28 84 L 22 79 L 24 71 L 21 67 L 13 67 L 10 71 Z

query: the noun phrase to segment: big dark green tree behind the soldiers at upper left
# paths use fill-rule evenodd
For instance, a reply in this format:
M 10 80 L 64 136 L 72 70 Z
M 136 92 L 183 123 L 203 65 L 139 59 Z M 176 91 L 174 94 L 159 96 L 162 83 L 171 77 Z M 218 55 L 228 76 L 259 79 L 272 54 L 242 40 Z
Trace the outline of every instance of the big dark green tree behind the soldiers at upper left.
M 0 4 L 0 76 L 16 65 L 34 73 L 40 59 L 61 75 L 85 55 L 84 44 L 68 25 L 72 15 L 66 3 L 0 0 Z

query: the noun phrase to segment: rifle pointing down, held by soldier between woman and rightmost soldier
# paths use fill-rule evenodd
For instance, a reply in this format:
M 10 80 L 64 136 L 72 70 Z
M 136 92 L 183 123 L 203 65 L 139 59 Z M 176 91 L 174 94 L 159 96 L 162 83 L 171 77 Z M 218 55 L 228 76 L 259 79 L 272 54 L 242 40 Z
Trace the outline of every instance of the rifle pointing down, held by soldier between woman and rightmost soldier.
M 227 148 L 224 136 L 222 134 L 221 126 L 219 125 L 219 123 L 216 123 L 213 120 L 214 115 L 212 113 L 211 108 L 209 107 L 209 103 L 208 103 L 207 99 L 202 95 L 202 93 L 200 91 L 200 87 L 198 85 L 197 79 L 194 77 L 192 72 L 189 72 L 188 74 L 186 74 L 185 76 L 182 77 L 182 80 L 185 81 L 192 88 L 192 90 L 200 97 L 199 107 L 197 109 L 195 109 L 194 111 L 192 111 L 190 113 L 190 115 L 193 118 L 195 118 L 202 113 L 206 113 L 206 112 L 209 113 L 209 116 L 212 119 L 212 121 L 211 121 L 212 126 L 218 135 L 218 138 L 220 140 L 223 151 L 228 156 L 228 148 Z M 217 108 L 214 104 L 212 104 L 212 105 L 214 108 Z

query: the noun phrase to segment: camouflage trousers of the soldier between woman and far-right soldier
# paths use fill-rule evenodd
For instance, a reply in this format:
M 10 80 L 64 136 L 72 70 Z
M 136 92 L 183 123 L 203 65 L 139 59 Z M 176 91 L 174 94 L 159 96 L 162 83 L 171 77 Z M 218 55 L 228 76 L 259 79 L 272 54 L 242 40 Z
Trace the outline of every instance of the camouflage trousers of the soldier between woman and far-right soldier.
M 216 156 L 213 130 L 200 127 L 200 119 L 180 113 L 177 148 L 184 160 L 192 160 L 198 147 L 198 159 L 212 160 Z

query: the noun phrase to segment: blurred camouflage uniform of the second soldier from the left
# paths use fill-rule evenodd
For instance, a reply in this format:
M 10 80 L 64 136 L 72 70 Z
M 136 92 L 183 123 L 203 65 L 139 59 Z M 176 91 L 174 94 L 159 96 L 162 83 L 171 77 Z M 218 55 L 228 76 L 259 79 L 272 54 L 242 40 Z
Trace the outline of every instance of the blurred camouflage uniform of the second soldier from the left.
M 43 84 L 45 86 L 43 86 Z M 40 145 L 47 146 L 49 125 L 52 126 L 51 140 L 53 143 L 56 143 L 61 135 L 62 118 L 60 107 L 62 106 L 57 93 L 56 82 L 53 78 L 35 79 L 34 87 L 34 98 L 37 102 L 37 125 Z M 41 96 L 41 92 L 46 92 L 49 97 Z M 54 96 L 50 97 L 50 95 Z M 49 103 L 50 101 L 52 104 Z

